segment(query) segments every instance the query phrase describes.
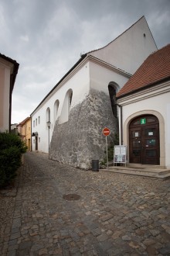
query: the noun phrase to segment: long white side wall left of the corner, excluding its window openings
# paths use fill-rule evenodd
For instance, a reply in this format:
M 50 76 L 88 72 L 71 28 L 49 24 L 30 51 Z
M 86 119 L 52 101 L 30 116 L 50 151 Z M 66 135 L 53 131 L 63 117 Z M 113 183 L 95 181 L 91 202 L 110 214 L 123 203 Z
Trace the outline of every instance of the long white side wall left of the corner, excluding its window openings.
M 73 74 L 70 74 L 61 84 L 59 84 L 53 92 L 45 99 L 42 104 L 31 114 L 32 117 L 32 133 L 38 133 L 38 150 L 48 153 L 49 144 L 48 141 L 51 140 L 53 135 L 53 129 L 56 123 L 56 119 L 59 118 L 63 109 L 63 102 L 66 96 L 66 92 L 72 89 L 73 97 L 71 102 L 72 109 L 74 106 L 79 104 L 86 98 L 89 93 L 90 81 L 89 81 L 89 63 L 83 64 Z M 57 116 L 54 114 L 54 109 L 56 107 L 56 100 L 59 100 L 59 108 L 57 111 Z M 50 129 L 46 123 L 46 109 L 50 109 Z M 38 119 L 40 118 L 40 123 Z M 36 126 L 37 119 L 37 126 Z M 33 126 L 35 121 L 35 126 Z M 64 136 L 64 134 L 63 134 Z M 49 137 L 49 140 L 48 140 Z M 32 150 L 35 150 L 35 137 L 32 137 Z

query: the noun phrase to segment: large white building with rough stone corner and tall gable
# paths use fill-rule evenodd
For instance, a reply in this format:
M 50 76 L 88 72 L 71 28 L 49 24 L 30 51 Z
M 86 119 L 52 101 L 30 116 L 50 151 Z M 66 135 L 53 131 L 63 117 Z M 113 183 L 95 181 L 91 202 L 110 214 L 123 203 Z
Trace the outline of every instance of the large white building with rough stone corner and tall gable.
M 78 168 L 105 157 L 118 133 L 116 93 L 157 50 L 145 17 L 106 47 L 83 54 L 32 112 L 32 150 Z

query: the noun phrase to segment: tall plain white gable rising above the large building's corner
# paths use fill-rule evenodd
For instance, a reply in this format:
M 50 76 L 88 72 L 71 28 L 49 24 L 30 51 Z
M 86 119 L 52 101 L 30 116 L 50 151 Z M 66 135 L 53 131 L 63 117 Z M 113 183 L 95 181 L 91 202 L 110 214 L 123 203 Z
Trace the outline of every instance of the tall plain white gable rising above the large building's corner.
M 145 16 L 142 16 L 107 46 L 88 54 L 134 74 L 146 57 L 157 49 Z

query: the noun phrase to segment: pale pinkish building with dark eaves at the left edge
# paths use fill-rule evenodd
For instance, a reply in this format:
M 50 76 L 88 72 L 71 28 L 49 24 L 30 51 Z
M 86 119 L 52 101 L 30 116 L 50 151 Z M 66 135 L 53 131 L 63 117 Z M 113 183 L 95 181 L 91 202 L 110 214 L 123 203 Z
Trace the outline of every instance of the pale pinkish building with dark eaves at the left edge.
M 11 130 L 12 90 L 19 64 L 0 54 L 0 132 Z

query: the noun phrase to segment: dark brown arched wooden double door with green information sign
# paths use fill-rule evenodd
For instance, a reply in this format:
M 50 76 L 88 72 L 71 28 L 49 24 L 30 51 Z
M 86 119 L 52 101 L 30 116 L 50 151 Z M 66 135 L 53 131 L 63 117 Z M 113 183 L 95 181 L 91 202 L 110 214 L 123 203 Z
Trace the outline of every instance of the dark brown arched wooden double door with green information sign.
M 156 116 L 139 116 L 129 126 L 129 161 L 160 164 L 159 123 Z

